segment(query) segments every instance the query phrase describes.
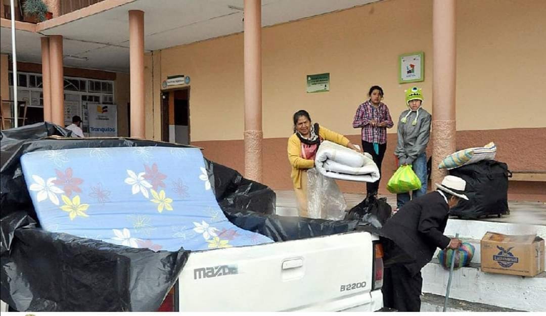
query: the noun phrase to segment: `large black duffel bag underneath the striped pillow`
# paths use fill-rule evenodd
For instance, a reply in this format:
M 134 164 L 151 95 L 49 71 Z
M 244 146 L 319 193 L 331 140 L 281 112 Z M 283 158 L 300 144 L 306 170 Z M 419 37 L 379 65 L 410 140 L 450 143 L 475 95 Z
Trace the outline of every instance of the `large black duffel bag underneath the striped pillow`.
M 508 165 L 495 160 L 482 160 L 449 170 L 449 174 L 466 181 L 468 201 L 460 199 L 449 214 L 471 219 L 488 215 L 508 214 Z

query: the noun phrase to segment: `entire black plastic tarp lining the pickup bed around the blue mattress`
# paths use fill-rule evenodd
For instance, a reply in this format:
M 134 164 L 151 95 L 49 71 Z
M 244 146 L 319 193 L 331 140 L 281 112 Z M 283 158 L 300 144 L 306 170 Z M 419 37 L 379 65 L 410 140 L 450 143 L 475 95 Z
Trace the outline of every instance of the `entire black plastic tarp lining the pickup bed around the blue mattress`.
M 45 138 L 46 136 L 60 138 Z M 17 311 L 156 311 L 190 252 L 153 252 L 40 228 L 21 171 L 22 154 L 82 147 L 182 146 L 127 138 L 63 138 L 69 131 L 39 123 L 2 131 L 0 150 L 0 298 Z M 8 156 L 8 158 L 5 158 Z M 205 159 L 218 204 L 242 229 L 275 241 L 377 232 L 359 220 L 271 215 L 275 193 Z

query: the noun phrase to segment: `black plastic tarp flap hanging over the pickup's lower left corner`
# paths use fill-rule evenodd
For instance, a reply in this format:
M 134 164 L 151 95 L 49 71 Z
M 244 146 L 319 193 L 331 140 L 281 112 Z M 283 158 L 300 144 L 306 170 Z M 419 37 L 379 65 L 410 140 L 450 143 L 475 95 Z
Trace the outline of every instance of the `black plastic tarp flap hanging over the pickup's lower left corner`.
M 17 311 L 155 311 L 188 258 L 45 231 L 25 212 L 1 223 L 1 298 Z

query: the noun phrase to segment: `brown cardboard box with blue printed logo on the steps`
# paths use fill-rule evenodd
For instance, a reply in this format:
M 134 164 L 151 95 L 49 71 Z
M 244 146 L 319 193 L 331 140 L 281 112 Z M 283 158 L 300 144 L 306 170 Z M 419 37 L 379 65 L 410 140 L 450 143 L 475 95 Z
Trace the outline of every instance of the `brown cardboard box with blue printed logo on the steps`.
M 544 240 L 537 235 L 488 231 L 480 245 L 484 272 L 533 277 L 544 271 Z

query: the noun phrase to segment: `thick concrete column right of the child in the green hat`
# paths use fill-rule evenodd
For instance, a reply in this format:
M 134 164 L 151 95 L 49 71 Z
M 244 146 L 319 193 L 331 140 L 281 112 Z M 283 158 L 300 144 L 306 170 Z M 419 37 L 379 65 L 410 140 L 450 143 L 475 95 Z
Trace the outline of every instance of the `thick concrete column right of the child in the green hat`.
M 438 169 L 455 152 L 455 0 L 432 2 L 432 184 L 447 174 Z

